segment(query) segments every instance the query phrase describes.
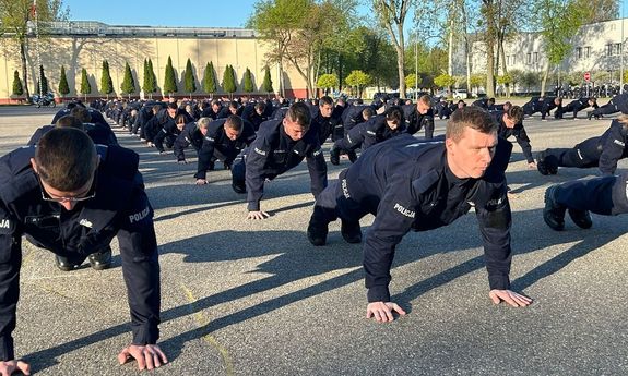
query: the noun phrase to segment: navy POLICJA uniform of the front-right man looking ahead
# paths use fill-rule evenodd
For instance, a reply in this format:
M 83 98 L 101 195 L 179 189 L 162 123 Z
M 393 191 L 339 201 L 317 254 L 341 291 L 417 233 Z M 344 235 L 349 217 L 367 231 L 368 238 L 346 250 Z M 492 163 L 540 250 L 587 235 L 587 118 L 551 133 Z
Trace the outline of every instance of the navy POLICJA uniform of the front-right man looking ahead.
M 447 165 L 445 143 L 394 137 L 341 172 L 317 199 L 312 221 L 355 223 L 366 214 L 376 216 L 364 244 L 366 287 L 369 302 L 388 302 L 391 264 L 402 238 L 410 230 L 449 225 L 474 206 L 490 289 L 509 289 L 511 214 L 505 170 L 511 149 L 500 138 L 483 178 L 459 179 Z

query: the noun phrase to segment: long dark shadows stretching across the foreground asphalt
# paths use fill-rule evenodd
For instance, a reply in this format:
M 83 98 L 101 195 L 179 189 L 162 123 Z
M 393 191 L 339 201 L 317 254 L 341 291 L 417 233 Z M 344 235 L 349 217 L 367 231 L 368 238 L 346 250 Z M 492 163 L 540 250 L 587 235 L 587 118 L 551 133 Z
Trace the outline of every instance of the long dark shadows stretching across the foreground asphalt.
M 481 247 L 481 236 L 477 226 L 474 226 L 476 223 L 474 217 L 475 215 L 470 214 L 449 227 L 406 235 L 398 247 L 394 267 L 396 268 L 440 253 Z M 621 218 L 619 221 L 617 221 L 617 218 L 594 216 L 595 225 L 590 230 L 580 230 L 572 223 L 568 223 L 566 231 L 556 232 L 547 228 L 543 222 L 542 210 L 540 209 L 514 213 L 514 227 L 512 230 L 513 263 L 517 263 L 517 255 L 543 251 L 557 244 L 573 242 L 576 244 L 559 255 L 537 265 L 525 275 L 513 278 L 512 288 L 521 291 L 552 274 L 559 272 L 572 260 L 624 234 L 626 228 L 628 228 L 628 218 Z M 469 234 L 470 229 L 473 229 L 471 236 Z M 532 233 L 534 238 L 533 241 L 530 241 Z M 332 232 L 330 238 L 332 236 L 337 238 L 339 234 Z M 286 246 L 277 248 L 277 244 L 286 244 Z M 420 247 L 418 252 L 416 250 L 417 245 Z M 221 231 L 164 244 L 161 246 L 161 253 L 183 254 L 186 255 L 183 258 L 186 263 L 225 262 L 275 255 L 272 259 L 260 264 L 257 269 L 251 270 L 251 272 L 268 274 L 269 277 L 220 291 L 213 295 L 201 298 L 193 303 L 164 311 L 162 313 L 162 322 L 177 319 L 221 303 L 275 289 L 304 278 L 337 269 L 353 268 L 353 270 L 340 276 L 269 299 L 254 306 L 218 317 L 205 326 L 166 339 L 161 342 L 161 345 L 168 354 L 170 361 L 178 357 L 188 341 L 202 338 L 213 331 L 247 319 L 272 313 L 304 299 L 360 281 L 364 278 L 360 267 L 360 245 L 341 243 L 335 244 L 333 247 L 315 248 L 309 245 L 305 233 L 301 231 Z M 417 296 L 435 288 L 442 287 L 459 277 L 483 269 L 484 266 L 483 255 L 473 257 L 428 277 L 414 286 L 407 287 L 403 292 L 394 294 L 392 300 L 400 303 L 410 313 L 412 312 L 412 301 Z M 128 324 L 117 325 L 54 348 L 34 352 L 25 359 L 32 363 L 33 369 L 42 371 L 54 365 L 55 359 L 58 356 L 94 342 L 122 335 L 128 332 L 129 329 Z

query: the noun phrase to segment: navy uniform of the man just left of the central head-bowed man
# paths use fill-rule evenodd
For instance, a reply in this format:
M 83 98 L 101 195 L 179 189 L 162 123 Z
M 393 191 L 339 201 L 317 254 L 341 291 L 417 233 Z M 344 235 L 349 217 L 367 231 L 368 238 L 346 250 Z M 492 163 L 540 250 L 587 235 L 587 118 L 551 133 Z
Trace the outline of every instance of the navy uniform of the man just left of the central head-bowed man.
M 225 133 L 227 119 L 212 121 L 208 125 L 208 134 L 203 137 L 199 149 L 199 163 L 194 178 L 205 179 L 210 165 L 216 159 L 230 167 L 236 157 L 256 140 L 256 131 L 248 121 L 242 121 L 242 131 L 232 141 Z

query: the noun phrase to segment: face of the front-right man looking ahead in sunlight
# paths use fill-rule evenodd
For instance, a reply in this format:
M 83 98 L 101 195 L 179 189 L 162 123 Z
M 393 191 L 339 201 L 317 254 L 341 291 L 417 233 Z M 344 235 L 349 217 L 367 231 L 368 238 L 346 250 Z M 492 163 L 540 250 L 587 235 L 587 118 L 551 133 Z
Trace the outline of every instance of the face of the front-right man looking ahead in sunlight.
M 454 175 L 460 179 L 481 178 L 486 172 L 495 155 L 497 145 L 496 133 L 482 133 L 465 128 L 462 138 L 454 142 L 445 141 L 447 147 L 447 163 Z

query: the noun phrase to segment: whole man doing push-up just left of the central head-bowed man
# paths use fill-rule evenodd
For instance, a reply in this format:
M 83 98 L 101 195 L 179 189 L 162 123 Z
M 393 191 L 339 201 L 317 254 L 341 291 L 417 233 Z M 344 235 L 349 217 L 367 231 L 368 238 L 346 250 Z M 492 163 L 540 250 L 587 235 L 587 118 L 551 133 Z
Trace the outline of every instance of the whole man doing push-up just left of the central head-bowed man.
M 214 161 L 221 160 L 226 169 L 236 157 L 256 140 L 256 131 L 248 121 L 237 114 L 217 119 L 209 123 L 208 132 L 199 149 L 197 185 L 208 183 L 208 170 L 214 169 Z

